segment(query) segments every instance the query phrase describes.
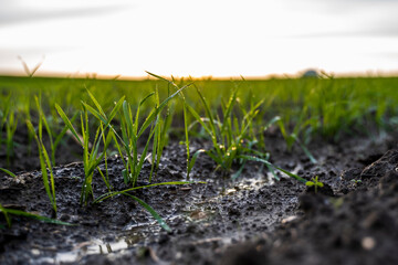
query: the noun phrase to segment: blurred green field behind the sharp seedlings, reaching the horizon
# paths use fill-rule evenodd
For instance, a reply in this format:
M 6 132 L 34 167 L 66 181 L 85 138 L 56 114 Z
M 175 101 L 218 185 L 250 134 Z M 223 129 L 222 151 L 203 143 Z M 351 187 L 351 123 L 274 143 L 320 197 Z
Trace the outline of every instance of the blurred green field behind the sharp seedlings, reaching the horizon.
M 300 131 L 311 130 L 311 134 L 338 139 L 345 132 L 366 134 L 369 126 L 388 129 L 397 123 L 396 77 L 175 81 L 179 86 L 191 82 L 193 85 L 185 89 L 184 94 L 187 102 L 200 114 L 203 114 L 203 106 L 193 86 L 201 91 L 213 110 L 227 104 L 237 87 L 239 107 L 249 109 L 255 102 L 264 99 L 255 118 L 258 126 L 277 115 L 290 126 L 301 123 Z M 34 114 L 33 97 L 40 93 L 45 114 L 51 119 L 60 121 L 54 104 L 59 104 L 67 114 L 73 115 L 81 109 L 81 100 L 90 102 L 86 88 L 104 109 L 109 109 L 122 96 L 125 96 L 132 106 L 136 106 L 156 87 L 159 89 L 160 98 L 166 98 L 176 91 L 168 83 L 154 78 L 117 81 L 0 76 L 1 126 L 8 120 L 4 116 L 8 103 L 9 113 L 14 112 L 19 124 L 24 124 L 27 115 Z M 142 112 L 148 113 L 154 107 L 154 99 L 150 100 L 143 106 Z M 175 107 L 176 117 L 181 118 L 181 104 L 177 102 Z M 184 126 L 182 123 L 179 125 Z

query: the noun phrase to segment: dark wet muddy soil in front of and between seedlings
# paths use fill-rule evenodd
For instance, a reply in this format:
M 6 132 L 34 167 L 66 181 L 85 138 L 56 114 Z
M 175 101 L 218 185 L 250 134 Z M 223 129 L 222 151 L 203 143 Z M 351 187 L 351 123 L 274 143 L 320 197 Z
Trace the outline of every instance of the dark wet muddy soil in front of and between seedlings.
M 206 156 L 192 176 L 206 184 L 163 186 L 130 192 L 151 205 L 171 227 L 161 230 L 137 202 L 117 195 L 80 205 L 83 165 L 54 168 L 57 219 L 74 226 L 0 215 L 0 264 L 398 264 L 398 145 L 396 135 L 314 141 L 318 159 L 285 150 L 279 136 L 265 137 L 271 161 L 325 187 L 317 192 L 248 162 L 234 181 L 214 171 Z M 202 144 L 192 145 L 192 151 Z M 153 182 L 185 180 L 185 147 L 165 149 Z M 104 168 L 105 163 L 101 165 Z M 114 190 L 127 187 L 119 158 L 107 160 Z M 142 171 L 148 181 L 150 165 Z M 94 195 L 107 192 L 101 176 Z M 41 172 L 2 176 L 0 203 L 52 216 Z

